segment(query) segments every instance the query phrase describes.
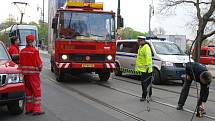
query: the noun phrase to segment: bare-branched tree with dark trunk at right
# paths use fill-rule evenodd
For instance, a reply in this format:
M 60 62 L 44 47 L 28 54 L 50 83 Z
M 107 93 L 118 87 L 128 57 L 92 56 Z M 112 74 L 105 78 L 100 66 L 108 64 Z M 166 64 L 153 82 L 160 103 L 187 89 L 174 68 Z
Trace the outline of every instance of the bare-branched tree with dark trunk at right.
M 161 12 L 171 12 L 180 5 L 194 8 L 197 21 L 194 60 L 198 61 L 203 40 L 215 34 L 215 0 L 162 0 L 160 3 Z

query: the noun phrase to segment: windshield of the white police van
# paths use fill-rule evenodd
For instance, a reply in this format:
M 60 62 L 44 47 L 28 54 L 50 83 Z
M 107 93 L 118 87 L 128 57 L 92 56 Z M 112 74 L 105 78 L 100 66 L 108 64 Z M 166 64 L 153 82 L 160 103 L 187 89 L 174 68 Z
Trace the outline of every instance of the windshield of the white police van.
M 185 55 L 175 43 L 153 42 L 157 54 L 162 55 Z

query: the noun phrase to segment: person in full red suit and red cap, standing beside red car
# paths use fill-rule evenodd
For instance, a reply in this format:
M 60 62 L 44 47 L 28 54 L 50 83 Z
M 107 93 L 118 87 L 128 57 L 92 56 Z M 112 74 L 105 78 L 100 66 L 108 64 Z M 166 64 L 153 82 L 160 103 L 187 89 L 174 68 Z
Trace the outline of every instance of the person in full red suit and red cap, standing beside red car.
M 26 113 L 32 115 L 41 115 L 41 87 L 40 72 L 42 70 L 42 61 L 39 51 L 33 46 L 35 37 L 26 36 L 26 47 L 20 52 L 20 68 L 24 75 L 26 90 Z

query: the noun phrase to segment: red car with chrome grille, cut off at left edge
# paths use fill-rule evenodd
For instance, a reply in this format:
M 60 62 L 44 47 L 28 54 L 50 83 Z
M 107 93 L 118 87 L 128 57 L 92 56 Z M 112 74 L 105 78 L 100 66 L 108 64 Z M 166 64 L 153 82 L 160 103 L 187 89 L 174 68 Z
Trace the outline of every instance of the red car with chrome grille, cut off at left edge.
M 6 47 L 0 41 L 0 106 L 7 105 L 12 114 L 22 113 L 25 104 L 24 89 L 21 70 L 12 61 Z

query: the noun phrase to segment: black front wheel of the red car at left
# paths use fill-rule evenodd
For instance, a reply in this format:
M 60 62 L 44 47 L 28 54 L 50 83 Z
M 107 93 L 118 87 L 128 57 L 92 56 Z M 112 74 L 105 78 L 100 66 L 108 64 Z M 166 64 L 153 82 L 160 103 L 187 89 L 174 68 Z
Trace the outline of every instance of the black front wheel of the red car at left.
M 11 114 L 21 114 L 24 110 L 24 106 L 24 100 L 18 100 L 7 104 L 8 110 Z

